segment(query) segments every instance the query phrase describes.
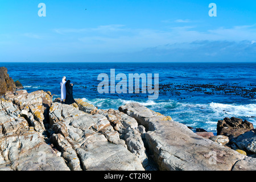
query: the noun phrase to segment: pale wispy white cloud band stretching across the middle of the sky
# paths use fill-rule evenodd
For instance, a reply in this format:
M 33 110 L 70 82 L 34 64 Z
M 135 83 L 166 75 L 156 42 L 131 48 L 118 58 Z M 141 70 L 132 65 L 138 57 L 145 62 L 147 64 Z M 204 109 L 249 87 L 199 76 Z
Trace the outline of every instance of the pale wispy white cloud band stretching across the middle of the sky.
M 129 28 L 123 24 L 110 24 L 91 28 L 58 28 L 54 32 L 63 36 L 55 46 L 67 50 L 76 48 L 84 53 L 135 52 L 148 47 L 191 43 L 200 40 L 241 42 L 256 40 L 255 26 L 218 27 L 199 31 L 196 26 L 170 27 L 166 30 Z M 189 44 L 187 44 L 188 46 Z M 255 44 L 254 44 L 255 45 Z M 189 45 L 191 46 L 191 45 Z M 211 54 L 212 55 L 212 54 Z

